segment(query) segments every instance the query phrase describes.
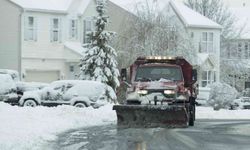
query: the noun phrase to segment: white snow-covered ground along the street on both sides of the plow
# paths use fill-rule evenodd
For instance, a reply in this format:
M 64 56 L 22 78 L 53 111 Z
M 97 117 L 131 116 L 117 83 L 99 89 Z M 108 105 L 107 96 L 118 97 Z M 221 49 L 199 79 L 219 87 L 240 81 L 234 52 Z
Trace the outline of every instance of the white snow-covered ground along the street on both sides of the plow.
M 198 119 L 250 119 L 250 110 L 213 111 L 197 107 Z M 0 102 L 0 149 L 44 149 L 56 135 L 69 129 L 115 124 L 112 105 L 99 109 L 59 107 L 17 107 Z

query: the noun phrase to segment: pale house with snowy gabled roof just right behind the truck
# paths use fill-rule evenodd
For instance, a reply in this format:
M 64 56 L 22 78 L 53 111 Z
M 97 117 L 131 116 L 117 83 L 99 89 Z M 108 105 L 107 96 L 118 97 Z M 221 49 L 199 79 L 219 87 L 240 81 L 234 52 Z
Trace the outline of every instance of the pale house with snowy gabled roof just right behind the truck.
M 164 9 L 191 42 L 186 54 L 194 53 L 193 65 L 198 70 L 199 98 L 207 99 L 209 85 L 220 81 L 220 35 L 222 26 L 182 3 L 171 0 Z

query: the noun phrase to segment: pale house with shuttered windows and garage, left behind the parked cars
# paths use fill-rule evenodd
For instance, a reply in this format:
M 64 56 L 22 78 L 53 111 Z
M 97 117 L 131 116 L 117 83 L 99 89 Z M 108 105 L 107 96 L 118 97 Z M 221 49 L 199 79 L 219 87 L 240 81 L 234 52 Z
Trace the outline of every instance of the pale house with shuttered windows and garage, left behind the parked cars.
M 5 55 L 0 56 L 1 65 L 19 70 L 24 81 L 75 78 L 85 51 L 82 45 L 89 42 L 87 33 L 94 29 L 96 0 L 3 0 L 0 6 L 4 7 L 0 9 L 1 18 L 5 19 L 0 29 L 6 30 L 5 35 L 15 34 L 10 36 L 15 40 L 3 40 L 1 44 L 0 53 Z M 12 15 L 7 17 L 8 13 Z M 109 2 L 108 15 L 112 22 L 108 29 L 119 35 L 129 12 Z

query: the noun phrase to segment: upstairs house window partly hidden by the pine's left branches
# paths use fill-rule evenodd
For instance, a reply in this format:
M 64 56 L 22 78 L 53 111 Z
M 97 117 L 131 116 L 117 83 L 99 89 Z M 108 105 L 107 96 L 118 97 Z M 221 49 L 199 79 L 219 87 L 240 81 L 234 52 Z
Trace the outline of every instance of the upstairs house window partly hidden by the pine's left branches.
M 93 20 L 91 18 L 87 18 L 83 21 L 83 24 L 84 24 L 83 43 L 90 43 L 91 42 L 90 34 L 94 28 Z

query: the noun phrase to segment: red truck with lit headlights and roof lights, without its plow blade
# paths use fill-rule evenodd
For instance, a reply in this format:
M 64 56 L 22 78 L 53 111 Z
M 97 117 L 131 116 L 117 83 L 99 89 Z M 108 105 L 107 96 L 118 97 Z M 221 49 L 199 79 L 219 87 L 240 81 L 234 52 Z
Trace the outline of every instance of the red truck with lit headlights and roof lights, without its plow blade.
M 187 102 L 190 97 L 196 97 L 193 86 L 196 78 L 196 71 L 182 57 L 139 57 L 130 66 L 131 86 L 127 90 L 127 103 L 141 103 L 139 97 L 153 93 L 162 96 L 147 96 L 149 102 Z M 135 93 L 134 96 L 139 94 L 139 97 L 133 97 L 131 93 Z

